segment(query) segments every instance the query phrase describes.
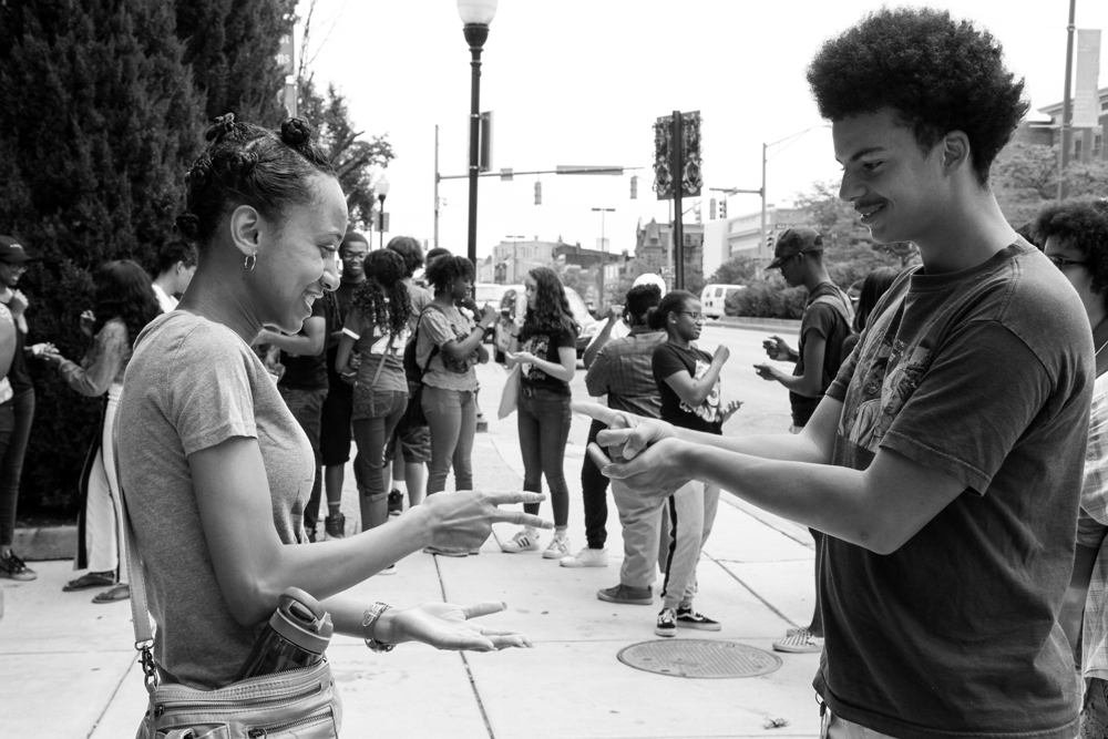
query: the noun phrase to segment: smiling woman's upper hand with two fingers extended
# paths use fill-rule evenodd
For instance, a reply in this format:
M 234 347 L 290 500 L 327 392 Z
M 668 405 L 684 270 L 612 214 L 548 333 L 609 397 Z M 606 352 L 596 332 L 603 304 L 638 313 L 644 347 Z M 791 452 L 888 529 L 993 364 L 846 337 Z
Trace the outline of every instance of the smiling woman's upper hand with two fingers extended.
M 513 503 L 541 503 L 545 500 L 546 496 L 542 493 L 463 490 L 428 495 L 414 512 L 430 516 L 431 543 L 434 546 L 470 548 L 481 546 L 489 538 L 494 523 L 553 528 L 553 523 L 536 515 L 500 507 Z

